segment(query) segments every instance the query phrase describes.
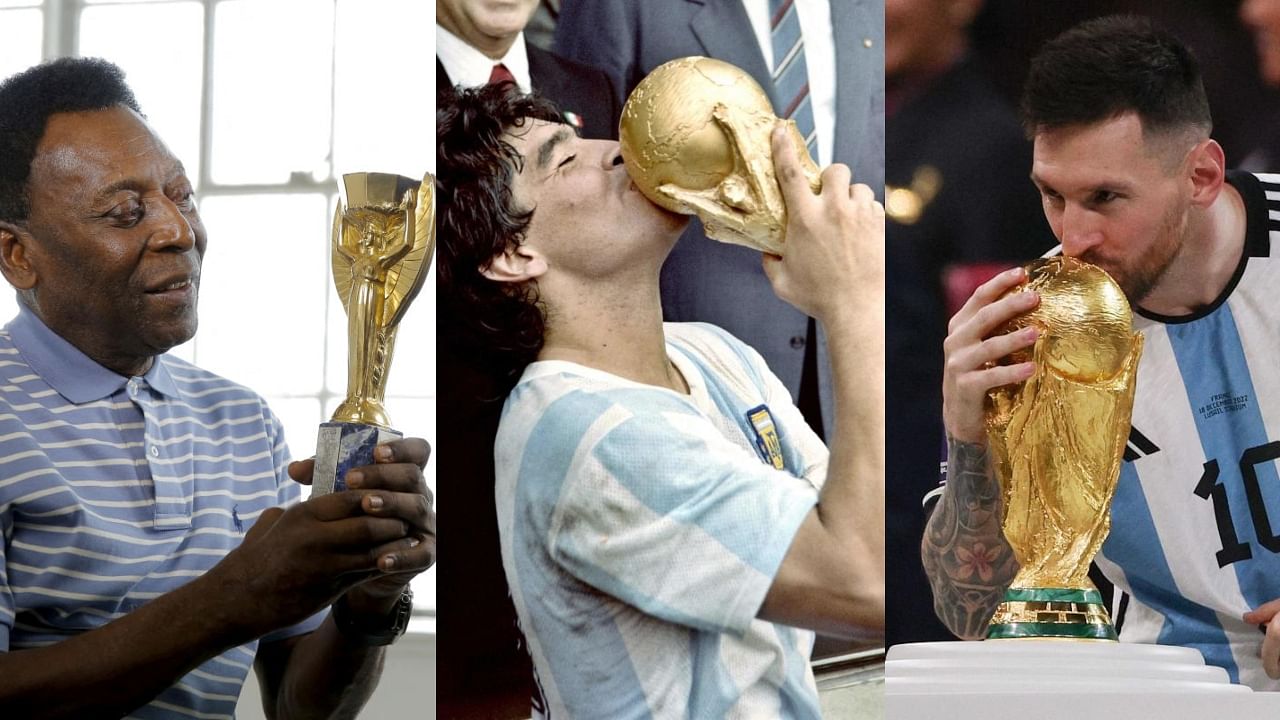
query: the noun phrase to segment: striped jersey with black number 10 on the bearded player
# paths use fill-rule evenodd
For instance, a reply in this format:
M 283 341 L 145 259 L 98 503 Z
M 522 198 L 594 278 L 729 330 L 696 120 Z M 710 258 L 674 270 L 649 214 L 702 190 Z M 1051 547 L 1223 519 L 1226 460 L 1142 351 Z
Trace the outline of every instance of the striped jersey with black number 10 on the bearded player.
M 1121 641 L 1190 646 L 1277 691 L 1242 616 L 1280 597 L 1280 176 L 1229 181 L 1248 231 L 1222 295 L 1189 316 L 1134 314 L 1146 348 L 1097 562 L 1125 593 Z

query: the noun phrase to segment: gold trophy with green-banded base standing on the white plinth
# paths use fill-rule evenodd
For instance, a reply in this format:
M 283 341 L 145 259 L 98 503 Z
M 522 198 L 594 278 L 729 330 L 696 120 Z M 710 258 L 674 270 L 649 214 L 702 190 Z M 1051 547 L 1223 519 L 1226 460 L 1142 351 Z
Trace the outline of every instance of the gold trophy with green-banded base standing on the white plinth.
M 1020 566 L 987 638 L 1116 639 L 1089 562 L 1111 529 L 1129 437 L 1142 336 L 1124 292 L 1071 258 L 1027 266 L 1039 307 L 1036 374 L 988 393 L 987 437 L 1004 500 L 1001 527 Z M 1027 352 L 1012 363 L 1025 361 Z

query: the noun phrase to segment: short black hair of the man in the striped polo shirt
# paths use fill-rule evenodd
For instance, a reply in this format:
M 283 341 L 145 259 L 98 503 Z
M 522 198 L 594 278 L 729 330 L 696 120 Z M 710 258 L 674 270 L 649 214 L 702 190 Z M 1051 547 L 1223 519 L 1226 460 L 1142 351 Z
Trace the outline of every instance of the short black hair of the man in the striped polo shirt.
M 60 58 L 0 83 L 0 220 L 31 213 L 27 179 L 49 118 L 115 105 L 142 114 L 124 72 L 100 58 Z

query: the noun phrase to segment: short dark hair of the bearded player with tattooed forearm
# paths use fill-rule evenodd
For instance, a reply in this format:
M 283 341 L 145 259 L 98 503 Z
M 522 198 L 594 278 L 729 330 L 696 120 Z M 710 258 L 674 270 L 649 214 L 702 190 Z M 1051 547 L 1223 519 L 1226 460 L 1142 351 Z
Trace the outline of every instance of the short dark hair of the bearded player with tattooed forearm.
M 1023 91 L 1028 137 L 1137 113 L 1144 136 L 1213 129 L 1199 64 L 1148 18 L 1097 18 L 1047 42 Z

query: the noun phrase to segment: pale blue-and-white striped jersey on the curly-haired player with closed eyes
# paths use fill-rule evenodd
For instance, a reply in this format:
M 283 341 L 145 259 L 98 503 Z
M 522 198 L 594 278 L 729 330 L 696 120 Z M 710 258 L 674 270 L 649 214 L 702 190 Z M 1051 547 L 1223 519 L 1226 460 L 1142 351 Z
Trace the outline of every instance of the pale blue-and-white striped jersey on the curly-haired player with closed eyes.
M 755 615 L 827 448 L 754 350 L 666 334 L 689 396 L 540 361 L 507 398 L 498 529 L 534 716 L 817 719 L 813 633 Z

